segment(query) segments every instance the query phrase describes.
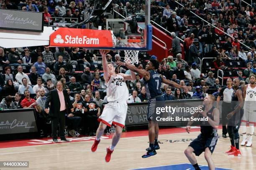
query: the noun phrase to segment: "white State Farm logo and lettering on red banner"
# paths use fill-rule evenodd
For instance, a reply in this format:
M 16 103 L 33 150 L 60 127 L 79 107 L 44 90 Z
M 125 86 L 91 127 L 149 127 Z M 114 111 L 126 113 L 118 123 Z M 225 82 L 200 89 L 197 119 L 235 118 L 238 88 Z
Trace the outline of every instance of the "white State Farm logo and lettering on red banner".
M 99 45 L 99 38 L 89 38 L 87 36 L 76 36 L 72 37 L 72 35 L 65 35 L 64 39 L 62 39 L 61 35 L 56 35 L 56 38 L 54 38 L 54 43 L 60 43 L 60 44 L 77 44 L 77 45 Z

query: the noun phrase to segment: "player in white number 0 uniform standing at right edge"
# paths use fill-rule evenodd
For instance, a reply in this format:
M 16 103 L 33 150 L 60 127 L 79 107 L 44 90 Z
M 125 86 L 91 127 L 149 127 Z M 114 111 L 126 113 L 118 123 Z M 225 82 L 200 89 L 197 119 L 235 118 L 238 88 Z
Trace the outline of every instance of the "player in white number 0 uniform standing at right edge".
M 241 146 L 252 146 L 252 137 L 254 132 L 254 124 L 256 123 L 256 75 L 251 74 L 250 84 L 245 85 L 243 90 L 243 99 L 244 99 L 244 114 L 242 119 L 242 133 L 243 141 Z M 249 123 L 249 136 L 246 135 L 246 123 Z

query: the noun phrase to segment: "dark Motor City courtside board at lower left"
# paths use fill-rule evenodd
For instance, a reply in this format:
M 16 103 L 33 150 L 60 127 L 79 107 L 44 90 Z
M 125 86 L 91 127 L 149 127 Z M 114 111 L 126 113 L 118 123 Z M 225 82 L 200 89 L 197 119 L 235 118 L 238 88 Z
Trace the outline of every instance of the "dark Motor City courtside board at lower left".
M 31 110 L 1 110 L 0 135 L 37 132 L 36 119 Z

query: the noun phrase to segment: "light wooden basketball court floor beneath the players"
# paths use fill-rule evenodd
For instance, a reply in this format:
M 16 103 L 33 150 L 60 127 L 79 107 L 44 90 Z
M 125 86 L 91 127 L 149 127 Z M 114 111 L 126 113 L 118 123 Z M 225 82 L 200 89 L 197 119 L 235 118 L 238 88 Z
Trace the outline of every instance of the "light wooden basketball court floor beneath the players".
M 220 134 L 221 130 L 218 132 Z M 189 163 L 184 155 L 184 149 L 189 145 L 190 140 L 196 138 L 198 134 L 199 132 L 159 135 L 160 150 L 157 150 L 156 155 L 144 159 L 141 156 L 146 153 L 145 149 L 148 147 L 147 136 L 121 138 L 109 163 L 105 163 L 105 154 L 111 139 L 101 140 L 95 153 L 90 150 L 92 140 L 2 148 L 0 149 L 0 161 L 29 161 L 29 168 L 18 168 L 29 170 L 130 170 Z M 255 135 L 253 136 L 253 144 L 252 147 L 240 148 L 241 157 L 229 157 L 224 154 L 230 146 L 229 138 L 218 138 L 217 146 L 212 155 L 215 166 L 232 170 L 255 170 Z M 198 164 L 207 165 L 203 154 L 196 158 Z

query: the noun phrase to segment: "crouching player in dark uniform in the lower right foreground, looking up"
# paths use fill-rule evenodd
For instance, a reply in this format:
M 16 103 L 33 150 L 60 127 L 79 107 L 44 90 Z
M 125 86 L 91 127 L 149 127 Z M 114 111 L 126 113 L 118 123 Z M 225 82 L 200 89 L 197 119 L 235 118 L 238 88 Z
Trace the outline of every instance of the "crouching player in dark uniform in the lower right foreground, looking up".
M 200 114 L 200 118 L 207 117 L 207 121 L 200 121 L 201 134 L 197 136 L 192 143 L 189 144 L 187 149 L 184 151 L 189 162 L 193 165 L 195 170 L 200 170 L 197 160 L 192 153 L 195 153 L 196 156 L 201 155 L 202 152 L 205 152 L 205 160 L 208 163 L 209 170 L 214 170 L 215 165 L 212 160 L 212 153 L 215 149 L 218 140 L 217 128 L 220 122 L 220 112 L 217 108 L 213 106 L 215 102 L 214 95 L 207 95 L 203 102 L 203 106 L 199 106 L 199 110 L 202 112 L 195 112 L 192 116 L 197 117 Z M 190 120 L 187 124 L 186 130 L 187 133 L 190 133 L 190 125 L 193 124 L 193 121 Z

